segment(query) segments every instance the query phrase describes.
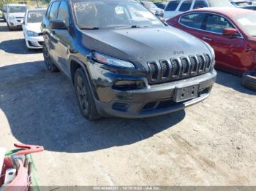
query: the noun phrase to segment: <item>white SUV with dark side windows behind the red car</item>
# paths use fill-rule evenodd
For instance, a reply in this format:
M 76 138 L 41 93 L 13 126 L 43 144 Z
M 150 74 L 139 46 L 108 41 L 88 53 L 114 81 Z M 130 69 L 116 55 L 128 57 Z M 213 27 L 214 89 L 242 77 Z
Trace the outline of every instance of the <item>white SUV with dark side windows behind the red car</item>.
M 164 17 L 168 19 L 182 12 L 203 7 L 234 7 L 229 0 L 171 0 L 165 7 Z

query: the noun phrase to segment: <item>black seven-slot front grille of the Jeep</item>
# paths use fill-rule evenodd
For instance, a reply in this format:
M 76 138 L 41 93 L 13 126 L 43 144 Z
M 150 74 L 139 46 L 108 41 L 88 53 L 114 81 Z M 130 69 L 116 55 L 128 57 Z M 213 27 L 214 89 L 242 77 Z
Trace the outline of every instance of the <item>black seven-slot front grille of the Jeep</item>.
M 148 83 L 159 84 L 205 74 L 211 69 L 211 63 L 208 54 L 148 62 Z

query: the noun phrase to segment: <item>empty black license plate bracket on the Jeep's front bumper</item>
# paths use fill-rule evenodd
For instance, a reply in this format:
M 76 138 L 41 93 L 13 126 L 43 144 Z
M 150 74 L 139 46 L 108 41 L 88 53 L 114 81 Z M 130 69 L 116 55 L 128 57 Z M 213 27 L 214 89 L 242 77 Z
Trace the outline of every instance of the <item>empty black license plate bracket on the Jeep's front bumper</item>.
M 198 96 L 199 85 L 191 85 L 188 87 L 180 87 L 175 90 L 173 101 L 187 101 Z

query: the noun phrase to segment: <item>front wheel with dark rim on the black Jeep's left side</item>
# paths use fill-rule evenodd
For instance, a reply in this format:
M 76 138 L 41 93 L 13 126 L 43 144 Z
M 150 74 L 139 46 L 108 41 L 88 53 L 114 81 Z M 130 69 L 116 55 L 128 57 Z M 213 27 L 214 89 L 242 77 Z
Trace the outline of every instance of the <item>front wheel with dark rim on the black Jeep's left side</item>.
M 83 117 L 86 117 L 87 120 L 99 120 L 101 116 L 95 106 L 94 96 L 89 87 L 89 80 L 83 68 L 79 68 L 75 71 L 74 85 L 78 106 Z

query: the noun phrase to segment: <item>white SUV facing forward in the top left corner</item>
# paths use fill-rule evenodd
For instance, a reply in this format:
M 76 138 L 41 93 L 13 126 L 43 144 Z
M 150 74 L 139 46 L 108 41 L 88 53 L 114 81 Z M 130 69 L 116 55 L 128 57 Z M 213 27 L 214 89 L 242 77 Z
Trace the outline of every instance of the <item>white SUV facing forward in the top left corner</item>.
M 7 4 L 4 11 L 4 18 L 10 31 L 13 28 L 21 27 L 26 13 L 25 4 Z

